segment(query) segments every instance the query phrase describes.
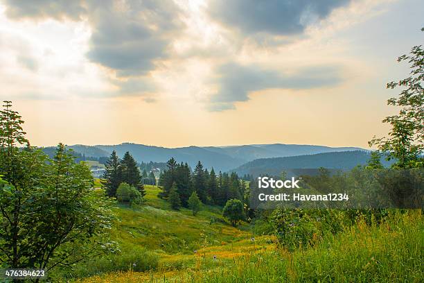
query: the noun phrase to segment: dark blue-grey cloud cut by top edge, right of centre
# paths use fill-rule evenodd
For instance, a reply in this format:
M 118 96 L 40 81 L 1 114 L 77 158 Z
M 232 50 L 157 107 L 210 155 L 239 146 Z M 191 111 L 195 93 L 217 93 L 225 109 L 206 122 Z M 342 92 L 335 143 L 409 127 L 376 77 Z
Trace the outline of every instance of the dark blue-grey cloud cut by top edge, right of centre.
M 214 19 L 236 27 L 242 33 L 294 35 L 311 22 L 323 19 L 349 0 L 211 0 L 209 13 Z

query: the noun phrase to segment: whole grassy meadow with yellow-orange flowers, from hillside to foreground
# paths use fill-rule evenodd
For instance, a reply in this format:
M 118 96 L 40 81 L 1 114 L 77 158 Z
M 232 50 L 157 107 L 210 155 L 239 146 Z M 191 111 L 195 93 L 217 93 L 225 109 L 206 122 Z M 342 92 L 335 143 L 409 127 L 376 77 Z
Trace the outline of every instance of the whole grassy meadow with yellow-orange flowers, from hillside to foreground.
M 356 225 L 289 252 L 253 225 L 231 227 L 220 207 L 193 216 L 145 186 L 139 207 L 116 205 L 115 255 L 91 259 L 64 282 L 424 282 L 421 210 L 394 211 L 384 223 Z M 254 241 L 252 241 L 254 237 Z M 64 278 L 64 279 L 63 279 Z

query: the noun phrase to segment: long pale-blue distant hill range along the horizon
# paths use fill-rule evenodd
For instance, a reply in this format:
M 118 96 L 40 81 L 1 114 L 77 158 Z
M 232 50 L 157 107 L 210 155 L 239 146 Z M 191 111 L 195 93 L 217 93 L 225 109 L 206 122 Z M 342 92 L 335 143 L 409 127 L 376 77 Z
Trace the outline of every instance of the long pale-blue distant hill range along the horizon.
M 242 146 L 186 146 L 181 148 L 165 148 L 145 146 L 143 144 L 123 143 L 116 145 L 85 146 L 76 144 L 69 146 L 76 153 L 85 157 L 107 157 L 116 151 L 122 157 L 126 151 L 134 156 L 137 162 L 166 162 L 174 157 L 177 162 L 187 162 L 194 168 L 200 160 L 208 169 L 228 171 L 246 162 L 260 158 L 288 157 L 315 153 L 340 151 L 357 151 L 362 148 L 333 148 L 328 146 L 313 146 L 299 144 L 251 144 Z

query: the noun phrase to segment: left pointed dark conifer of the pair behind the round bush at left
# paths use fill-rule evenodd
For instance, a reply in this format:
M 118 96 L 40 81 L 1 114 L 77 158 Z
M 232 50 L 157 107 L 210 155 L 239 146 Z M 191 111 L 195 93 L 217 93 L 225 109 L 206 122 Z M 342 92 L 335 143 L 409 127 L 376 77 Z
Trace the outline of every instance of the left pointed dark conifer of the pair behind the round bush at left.
M 112 151 L 112 154 L 107 160 L 106 171 L 103 173 L 103 177 L 100 182 L 103 186 L 106 187 L 107 194 L 109 196 L 116 196 L 116 189 L 118 189 L 119 184 L 122 180 L 122 171 L 119 164 L 119 158 L 116 155 L 116 151 Z

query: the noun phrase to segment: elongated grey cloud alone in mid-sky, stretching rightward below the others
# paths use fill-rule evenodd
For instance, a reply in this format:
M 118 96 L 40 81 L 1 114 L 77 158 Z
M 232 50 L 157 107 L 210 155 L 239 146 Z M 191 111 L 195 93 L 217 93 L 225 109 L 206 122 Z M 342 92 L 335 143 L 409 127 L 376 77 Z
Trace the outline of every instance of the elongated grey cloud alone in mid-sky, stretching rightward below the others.
M 248 101 L 249 93 L 263 89 L 312 89 L 336 85 L 341 81 L 337 67 L 311 67 L 296 74 L 281 75 L 278 71 L 256 65 L 229 63 L 218 68 L 218 92 L 211 96 L 208 109 L 235 109 L 233 103 Z

